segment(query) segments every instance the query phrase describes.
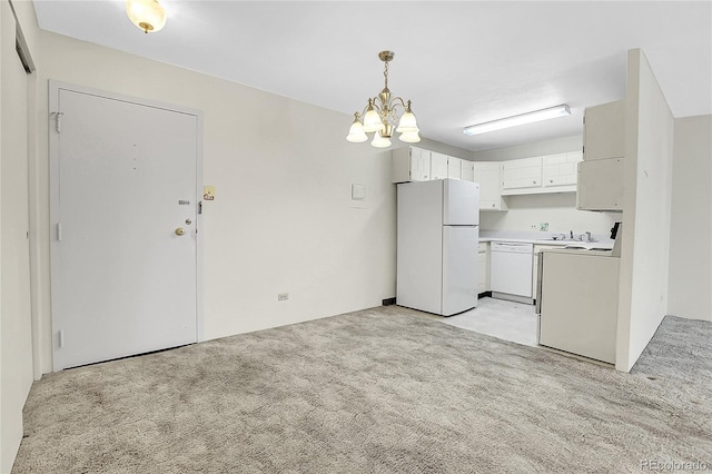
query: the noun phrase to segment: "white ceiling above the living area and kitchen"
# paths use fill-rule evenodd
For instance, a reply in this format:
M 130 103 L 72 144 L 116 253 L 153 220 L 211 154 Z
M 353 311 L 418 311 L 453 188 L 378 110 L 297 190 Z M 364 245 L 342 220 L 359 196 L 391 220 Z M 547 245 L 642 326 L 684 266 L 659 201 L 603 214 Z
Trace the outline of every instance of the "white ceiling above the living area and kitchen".
M 483 150 L 582 132 L 583 109 L 625 96 L 642 48 L 675 117 L 712 113 L 711 1 L 161 0 L 145 34 L 123 0 L 34 0 L 41 28 L 353 115 L 383 88 L 421 135 Z M 572 115 L 466 137 L 465 126 L 568 103 Z M 350 118 L 344 118 L 344 135 Z

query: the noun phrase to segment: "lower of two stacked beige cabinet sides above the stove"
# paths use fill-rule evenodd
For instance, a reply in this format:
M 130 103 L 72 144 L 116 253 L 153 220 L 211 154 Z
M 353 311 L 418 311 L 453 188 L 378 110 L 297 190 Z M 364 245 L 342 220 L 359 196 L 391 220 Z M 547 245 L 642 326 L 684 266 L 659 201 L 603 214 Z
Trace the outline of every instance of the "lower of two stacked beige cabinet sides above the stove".
M 580 162 L 576 207 L 581 210 L 623 210 L 623 158 Z

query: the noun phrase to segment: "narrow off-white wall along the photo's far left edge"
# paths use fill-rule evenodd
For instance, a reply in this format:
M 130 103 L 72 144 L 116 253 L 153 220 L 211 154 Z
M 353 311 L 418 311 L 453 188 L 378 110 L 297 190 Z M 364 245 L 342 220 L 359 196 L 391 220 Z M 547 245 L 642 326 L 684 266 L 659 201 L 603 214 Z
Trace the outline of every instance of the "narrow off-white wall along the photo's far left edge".
M 30 48 L 32 4 L 16 2 Z M 33 136 L 28 102 L 34 81 L 16 53 L 16 19 L 0 2 L 0 472 L 9 473 L 22 440 L 22 407 L 32 384 L 28 157 Z M 31 50 L 30 53 L 33 53 Z

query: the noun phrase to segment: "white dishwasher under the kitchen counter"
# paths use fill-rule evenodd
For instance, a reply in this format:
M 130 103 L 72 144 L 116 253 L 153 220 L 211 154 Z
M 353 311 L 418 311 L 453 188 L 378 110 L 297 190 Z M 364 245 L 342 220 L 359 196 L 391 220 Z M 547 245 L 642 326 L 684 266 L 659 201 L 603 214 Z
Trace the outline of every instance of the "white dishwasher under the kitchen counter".
M 532 304 L 534 245 L 493 241 L 491 251 L 492 297 Z

